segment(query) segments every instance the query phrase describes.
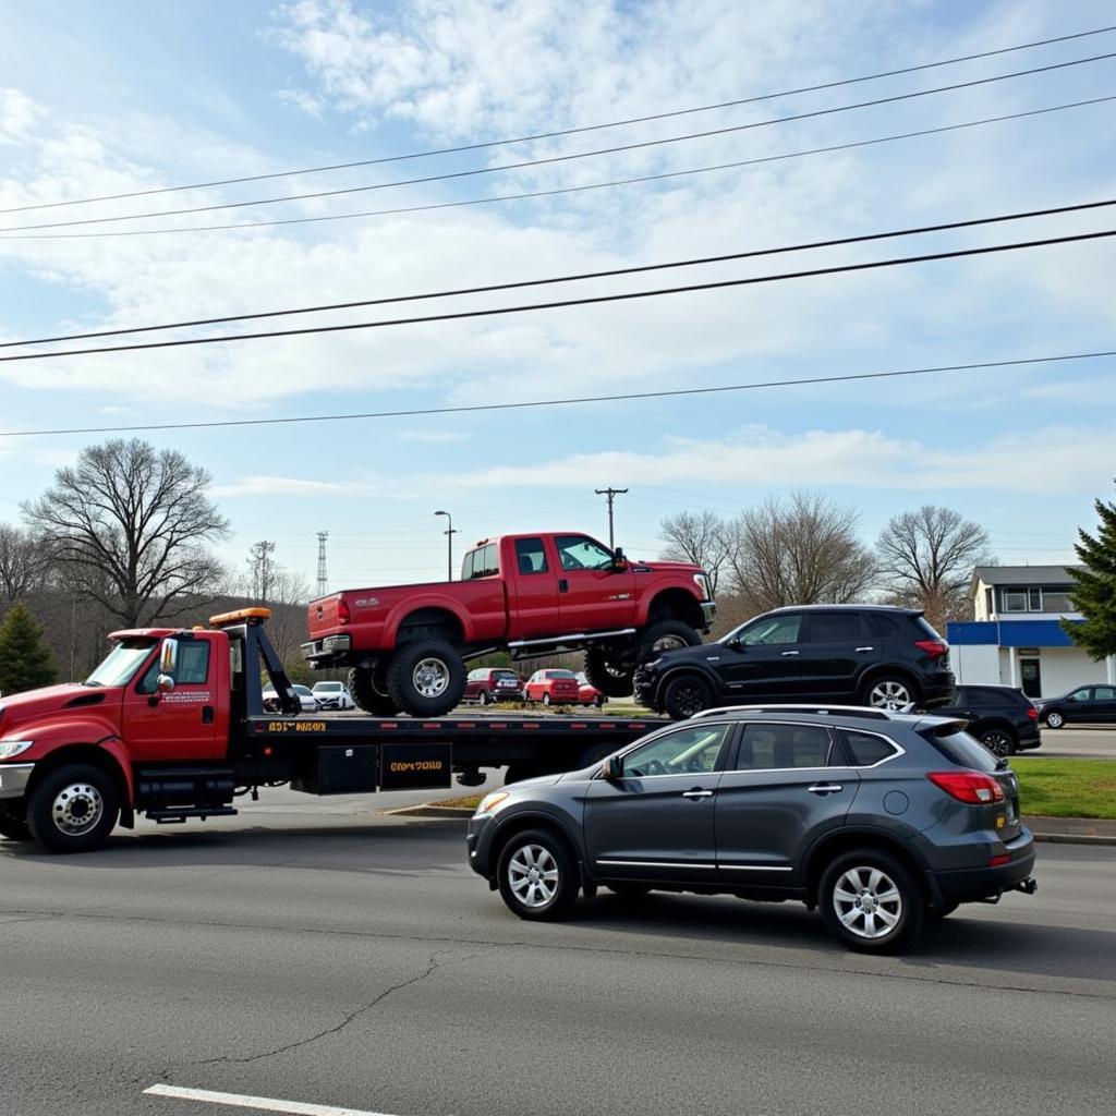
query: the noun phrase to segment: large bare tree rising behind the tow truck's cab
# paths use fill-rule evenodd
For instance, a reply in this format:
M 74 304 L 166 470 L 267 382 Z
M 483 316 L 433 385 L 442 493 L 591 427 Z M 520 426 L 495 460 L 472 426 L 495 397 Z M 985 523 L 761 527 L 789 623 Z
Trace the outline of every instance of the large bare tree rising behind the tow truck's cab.
M 229 525 L 205 496 L 209 483 L 174 450 L 114 439 L 59 469 L 23 513 L 80 590 L 136 627 L 195 607 L 220 577 L 209 543 Z

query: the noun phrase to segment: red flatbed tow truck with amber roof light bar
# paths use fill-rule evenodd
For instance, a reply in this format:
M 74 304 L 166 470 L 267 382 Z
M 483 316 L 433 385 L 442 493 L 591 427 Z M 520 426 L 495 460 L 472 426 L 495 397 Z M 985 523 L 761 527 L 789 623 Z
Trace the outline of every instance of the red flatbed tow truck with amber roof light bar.
M 116 632 L 80 684 L 0 699 L 0 836 L 52 853 L 97 848 L 117 821 L 237 812 L 239 796 L 449 787 L 588 766 L 655 728 L 616 718 L 383 719 L 304 714 L 266 608 L 210 628 Z M 263 708 L 266 674 L 279 703 Z

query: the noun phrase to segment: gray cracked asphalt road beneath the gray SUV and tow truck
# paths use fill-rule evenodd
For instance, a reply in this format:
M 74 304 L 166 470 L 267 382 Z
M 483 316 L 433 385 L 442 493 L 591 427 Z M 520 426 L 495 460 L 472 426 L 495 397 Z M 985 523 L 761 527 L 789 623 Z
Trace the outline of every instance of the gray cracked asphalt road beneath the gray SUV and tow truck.
M 170 1086 L 324 1116 L 1110 1116 L 1116 849 L 1045 846 L 1037 896 L 863 958 L 791 904 L 523 923 L 462 822 L 368 808 L 0 843 L 0 1113 L 248 1110 L 144 1091 Z

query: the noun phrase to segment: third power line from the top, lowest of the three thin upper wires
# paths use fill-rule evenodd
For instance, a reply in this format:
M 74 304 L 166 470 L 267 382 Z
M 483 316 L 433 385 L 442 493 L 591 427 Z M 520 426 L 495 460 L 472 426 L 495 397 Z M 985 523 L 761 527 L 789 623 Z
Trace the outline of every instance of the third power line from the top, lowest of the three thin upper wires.
M 4 240 L 93 240 L 115 237 L 170 237 L 190 232 L 221 232 L 235 229 L 275 229 L 288 224 L 319 224 L 324 221 L 352 221 L 357 218 L 396 217 L 404 213 L 427 213 L 432 210 L 462 209 L 468 205 L 490 205 L 498 202 L 526 201 L 536 198 L 555 198 L 559 194 L 585 193 L 590 190 L 605 190 L 613 186 L 627 186 L 645 182 L 662 182 L 667 179 L 681 179 L 694 174 L 710 174 L 715 171 L 731 171 L 742 166 L 757 166 L 762 163 L 778 163 L 788 158 L 804 158 L 807 155 L 825 155 L 839 151 L 853 151 L 857 147 L 872 147 L 877 144 L 895 143 L 899 140 L 915 140 L 921 136 L 941 135 L 945 132 L 959 132 L 963 128 L 975 128 L 988 124 L 1002 124 L 1007 121 L 1019 121 L 1029 116 L 1043 116 L 1047 113 L 1060 113 L 1069 108 L 1083 108 L 1088 105 L 1100 105 L 1116 100 L 1116 96 L 1090 97 L 1087 100 L 1071 100 L 1062 105 L 1050 105 L 1046 108 L 1031 108 L 1020 113 L 1008 113 L 1003 116 L 987 116 L 979 121 L 963 121 L 960 124 L 945 124 L 936 128 L 921 128 L 916 132 L 901 132 L 888 136 L 877 136 L 873 140 L 855 140 L 849 143 L 830 144 L 826 147 L 809 147 L 805 151 L 786 152 L 780 155 L 762 155 L 756 158 L 734 160 L 729 163 L 714 163 L 711 166 L 696 166 L 682 171 L 663 171 L 658 174 L 639 174 L 628 179 L 610 179 L 607 182 L 590 182 L 578 186 L 559 186 L 554 190 L 530 190 L 517 194 L 492 194 L 488 198 L 469 198 L 456 202 L 431 202 L 424 205 L 401 205 L 394 209 L 362 210 L 357 213 L 329 213 L 319 217 L 280 218 L 275 221 L 238 221 L 231 224 L 191 224 L 170 229 L 122 229 L 109 232 L 39 232 L 30 234 L 0 234 Z

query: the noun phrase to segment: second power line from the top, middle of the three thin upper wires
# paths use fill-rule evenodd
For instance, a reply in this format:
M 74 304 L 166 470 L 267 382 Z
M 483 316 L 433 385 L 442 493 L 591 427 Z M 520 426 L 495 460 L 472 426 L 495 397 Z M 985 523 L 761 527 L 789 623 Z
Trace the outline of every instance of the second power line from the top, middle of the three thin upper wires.
M 974 78 L 970 81 L 956 81 L 952 85 L 937 86 L 933 89 L 918 89 L 914 93 L 899 93 L 891 97 L 877 97 L 874 100 L 856 102 L 852 105 L 836 105 L 831 108 L 818 108 L 809 113 L 796 113 L 791 116 L 776 116 L 769 121 L 752 121 L 748 124 L 733 124 L 722 128 L 709 128 L 704 132 L 690 132 L 685 135 L 665 136 L 660 140 L 644 140 L 639 143 L 617 144 L 612 147 L 598 147 L 595 151 L 575 152 L 569 155 L 548 155 L 543 158 L 523 160 L 518 163 L 501 163 L 497 166 L 480 166 L 468 171 L 448 171 L 442 174 L 429 174 L 415 179 L 396 179 L 393 182 L 376 182 L 364 186 L 343 186 L 336 190 L 317 190 L 304 194 L 283 194 L 278 198 L 258 198 L 244 202 L 220 202 L 213 205 L 193 205 L 187 209 L 156 210 L 151 213 L 123 213 L 117 217 L 79 218 L 73 221 L 50 221 L 39 224 L 17 224 L 0 227 L 0 233 L 25 232 L 35 229 L 67 229 L 86 224 L 113 224 L 119 221 L 142 221 L 154 217 L 185 217 L 191 213 L 212 213 L 215 210 L 244 209 L 254 205 L 277 205 L 281 202 L 310 201 L 320 198 L 338 198 L 343 194 L 367 193 L 374 190 L 387 190 L 393 186 L 424 185 L 431 182 L 446 182 L 455 179 L 469 179 L 481 174 L 497 174 L 501 171 L 521 171 L 532 166 L 547 166 L 555 163 L 568 163 L 579 158 L 591 158 L 598 155 L 615 155 L 626 151 L 642 151 L 648 147 L 660 147 L 664 144 L 682 143 L 689 140 L 708 140 L 712 136 L 729 135 L 737 132 L 748 132 L 753 128 L 771 127 L 775 124 L 789 124 L 796 121 L 815 119 L 819 116 L 833 116 L 836 113 L 848 113 L 857 108 L 873 108 L 878 105 L 891 105 L 901 100 L 912 100 L 917 97 L 929 97 L 939 93 L 952 93 L 958 89 L 971 89 L 975 86 L 990 85 L 993 81 L 1006 81 L 1009 78 L 1030 77 L 1035 74 L 1047 74 L 1052 70 L 1067 69 L 1071 66 L 1085 66 L 1089 62 L 1105 61 L 1116 58 L 1116 51 L 1105 55 L 1093 55 L 1088 58 L 1075 58 L 1065 62 L 1051 62 L 1047 66 L 1036 66 L 1031 69 L 1014 70 L 1010 74 L 997 74 L 992 77 Z

